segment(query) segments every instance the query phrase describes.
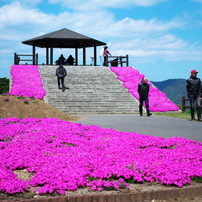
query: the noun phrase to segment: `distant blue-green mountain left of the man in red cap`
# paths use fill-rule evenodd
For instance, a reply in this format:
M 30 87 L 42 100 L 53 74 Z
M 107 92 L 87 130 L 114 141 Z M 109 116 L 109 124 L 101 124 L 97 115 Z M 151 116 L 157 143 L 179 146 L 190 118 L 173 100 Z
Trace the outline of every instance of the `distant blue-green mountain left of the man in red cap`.
M 187 96 L 186 79 L 168 79 L 166 81 L 151 81 L 160 91 L 166 93 L 167 97 L 175 104 L 182 105 L 182 97 Z

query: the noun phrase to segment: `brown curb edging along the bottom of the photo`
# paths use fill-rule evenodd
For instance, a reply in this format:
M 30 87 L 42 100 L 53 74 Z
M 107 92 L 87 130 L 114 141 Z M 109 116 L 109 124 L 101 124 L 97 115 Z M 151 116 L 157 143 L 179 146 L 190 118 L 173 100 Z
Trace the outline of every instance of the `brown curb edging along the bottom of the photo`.
M 162 191 L 116 194 L 116 195 L 85 195 L 85 196 L 65 196 L 40 199 L 17 199 L 18 202 L 143 202 L 144 200 L 166 200 L 179 197 L 202 196 L 202 186 L 191 188 L 178 188 Z M 2 200 L 0 200 L 2 201 Z M 11 202 L 14 200 L 3 200 Z M 15 200 L 16 201 L 16 200 Z

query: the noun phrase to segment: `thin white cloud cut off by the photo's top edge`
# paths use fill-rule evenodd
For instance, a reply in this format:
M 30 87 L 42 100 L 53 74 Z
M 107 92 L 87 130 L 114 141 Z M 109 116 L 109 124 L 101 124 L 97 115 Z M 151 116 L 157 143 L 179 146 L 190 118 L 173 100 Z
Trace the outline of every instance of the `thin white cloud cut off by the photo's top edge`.
M 63 7 L 67 7 L 73 10 L 80 10 L 83 12 L 100 10 L 103 8 L 128 8 L 134 6 L 154 6 L 158 3 L 165 2 L 168 0 L 49 0 L 53 4 L 61 4 Z

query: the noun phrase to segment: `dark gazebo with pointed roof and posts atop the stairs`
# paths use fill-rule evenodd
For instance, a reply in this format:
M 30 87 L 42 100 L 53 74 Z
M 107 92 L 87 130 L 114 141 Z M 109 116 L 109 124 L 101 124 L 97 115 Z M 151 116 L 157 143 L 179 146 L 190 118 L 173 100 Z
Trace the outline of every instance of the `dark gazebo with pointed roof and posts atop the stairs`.
M 83 49 L 83 65 L 86 65 L 86 48 L 94 48 L 94 65 L 97 65 L 97 46 L 104 46 L 106 43 L 85 35 L 76 33 L 69 29 L 61 29 L 49 34 L 38 36 L 22 42 L 33 47 L 33 57 L 36 55 L 36 47 L 46 48 L 46 64 L 53 65 L 53 48 L 75 48 L 75 65 L 78 65 L 78 49 Z M 50 51 L 49 51 L 50 50 Z M 50 57 L 49 57 L 50 55 Z M 49 61 L 50 59 L 50 61 Z M 34 61 L 34 58 L 33 58 Z

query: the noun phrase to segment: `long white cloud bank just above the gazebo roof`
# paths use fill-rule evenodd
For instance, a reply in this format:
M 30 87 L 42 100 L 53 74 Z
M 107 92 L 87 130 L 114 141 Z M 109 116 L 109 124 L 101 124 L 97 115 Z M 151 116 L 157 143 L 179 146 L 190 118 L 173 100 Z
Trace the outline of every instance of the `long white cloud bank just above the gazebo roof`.
M 103 20 L 103 16 L 107 19 L 107 23 Z M 185 25 L 186 22 L 178 19 L 159 21 L 124 18 L 116 21 L 113 14 L 107 11 L 88 14 L 82 12 L 45 14 L 38 9 L 22 6 L 20 2 L 13 2 L 0 8 L 0 26 L 4 30 L 0 35 L 6 40 L 9 38 L 26 40 L 64 27 L 90 37 L 98 37 L 100 40 L 110 37 L 134 38 L 152 32 L 183 28 Z

